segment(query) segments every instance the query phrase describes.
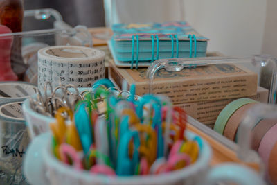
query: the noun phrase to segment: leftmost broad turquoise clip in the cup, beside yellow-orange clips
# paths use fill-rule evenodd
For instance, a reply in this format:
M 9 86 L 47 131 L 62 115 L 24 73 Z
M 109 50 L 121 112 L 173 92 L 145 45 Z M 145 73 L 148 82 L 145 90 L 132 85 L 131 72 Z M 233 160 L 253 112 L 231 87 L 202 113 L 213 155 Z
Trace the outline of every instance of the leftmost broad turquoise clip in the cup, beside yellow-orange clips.
M 77 111 L 74 113 L 74 121 L 78 134 L 80 136 L 80 141 L 82 143 L 82 148 L 84 154 L 89 152 L 89 148 L 93 143 L 93 135 L 91 130 L 91 121 L 89 119 L 89 114 L 87 114 L 86 105 L 87 103 L 82 103 Z

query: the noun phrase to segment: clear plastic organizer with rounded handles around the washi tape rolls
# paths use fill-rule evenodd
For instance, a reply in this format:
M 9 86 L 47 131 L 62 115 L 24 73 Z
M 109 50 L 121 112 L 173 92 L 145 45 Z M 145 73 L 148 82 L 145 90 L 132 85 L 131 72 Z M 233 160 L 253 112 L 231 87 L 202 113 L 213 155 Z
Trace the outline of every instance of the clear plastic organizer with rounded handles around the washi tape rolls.
M 165 69 L 166 71 L 175 72 L 175 71 L 181 71 L 185 67 L 189 67 L 189 68 L 200 67 L 200 66 L 206 66 L 210 64 L 242 64 L 244 67 L 247 67 L 251 69 L 251 71 L 256 72 L 258 74 L 258 85 L 268 89 L 269 91 L 267 104 L 256 103 L 257 105 L 249 109 L 247 114 L 245 114 L 245 117 L 243 121 L 240 122 L 240 126 L 238 129 L 238 144 L 222 136 L 222 134 L 215 132 L 210 127 L 207 127 L 206 125 L 200 123 L 194 118 L 191 118 L 190 116 L 188 116 L 188 123 L 195 126 L 197 129 L 201 130 L 205 134 L 208 134 L 208 136 L 211 136 L 211 138 L 224 144 L 225 146 L 227 146 L 228 148 L 236 152 L 238 154 L 238 157 L 242 161 L 257 163 L 260 166 L 260 173 L 267 174 L 266 176 L 268 180 L 269 167 L 268 167 L 268 164 L 266 164 L 266 162 L 268 161 L 265 162 L 265 160 L 261 159 L 260 152 L 258 154 L 257 151 L 251 148 L 251 142 L 253 142 L 253 138 L 255 137 L 253 136 L 253 132 L 251 130 L 253 130 L 253 127 L 257 125 L 257 123 L 261 120 L 261 118 L 277 120 L 277 114 L 276 114 L 277 108 L 275 106 L 276 71 L 277 71 L 276 58 L 273 58 L 270 55 L 253 55 L 253 57 L 251 58 L 215 57 L 215 58 L 191 58 L 191 59 L 179 58 L 179 59 L 156 60 L 150 65 L 150 67 L 148 67 L 148 71 L 147 71 L 147 76 L 150 79 L 150 82 L 149 82 L 150 92 L 153 91 L 153 87 L 155 85 L 155 80 L 154 80 L 155 73 L 157 73 L 157 71 L 159 71 L 160 69 Z M 273 144 L 271 143 L 271 147 L 272 146 Z M 265 147 L 267 147 L 267 145 L 265 145 Z M 272 174 L 274 174 L 274 172 L 271 173 L 271 175 Z M 276 184 L 276 183 L 277 182 L 273 182 L 273 184 Z

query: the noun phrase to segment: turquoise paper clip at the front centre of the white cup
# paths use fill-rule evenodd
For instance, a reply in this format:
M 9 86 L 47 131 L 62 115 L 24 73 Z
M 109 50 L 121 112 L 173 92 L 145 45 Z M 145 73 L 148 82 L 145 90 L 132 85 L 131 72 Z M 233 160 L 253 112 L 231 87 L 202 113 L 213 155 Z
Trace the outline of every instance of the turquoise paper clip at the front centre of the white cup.
M 129 142 L 133 139 L 134 148 L 132 159 L 129 158 Z M 139 132 L 125 132 L 118 144 L 116 174 L 119 176 L 134 175 L 136 166 L 139 165 Z

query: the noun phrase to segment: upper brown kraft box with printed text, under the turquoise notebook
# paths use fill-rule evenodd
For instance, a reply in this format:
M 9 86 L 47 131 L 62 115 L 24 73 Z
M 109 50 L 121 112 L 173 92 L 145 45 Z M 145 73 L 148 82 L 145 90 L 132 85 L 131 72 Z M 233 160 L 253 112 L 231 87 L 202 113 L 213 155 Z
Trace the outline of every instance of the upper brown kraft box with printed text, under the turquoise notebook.
M 116 68 L 113 71 L 112 78 L 122 76 L 129 85 L 136 84 L 137 95 L 148 94 L 146 69 Z M 152 92 L 168 96 L 174 104 L 239 98 L 256 94 L 257 79 L 256 73 L 233 64 L 213 64 L 196 69 L 186 68 L 179 72 L 161 69 L 154 76 Z M 116 83 L 120 86 L 120 82 Z

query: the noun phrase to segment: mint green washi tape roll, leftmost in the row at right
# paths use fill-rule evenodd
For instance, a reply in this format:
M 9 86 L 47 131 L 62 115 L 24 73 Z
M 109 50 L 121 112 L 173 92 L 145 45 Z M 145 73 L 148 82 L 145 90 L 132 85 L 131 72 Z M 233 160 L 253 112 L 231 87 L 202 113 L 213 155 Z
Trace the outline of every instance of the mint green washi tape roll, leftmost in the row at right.
M 252 100 L 250 98 L 240 98 L 238 100 L 233 100 L 231 103 L 226 105 L 224 109 L 222 109 L 222 112 L 220 112 L 220 115 L 218 115 L 217 120 L 215 121 L 213 130 L 223 135 L 225 126 L 233 113 L 243 105 L 256 102 L 256 100 Z

